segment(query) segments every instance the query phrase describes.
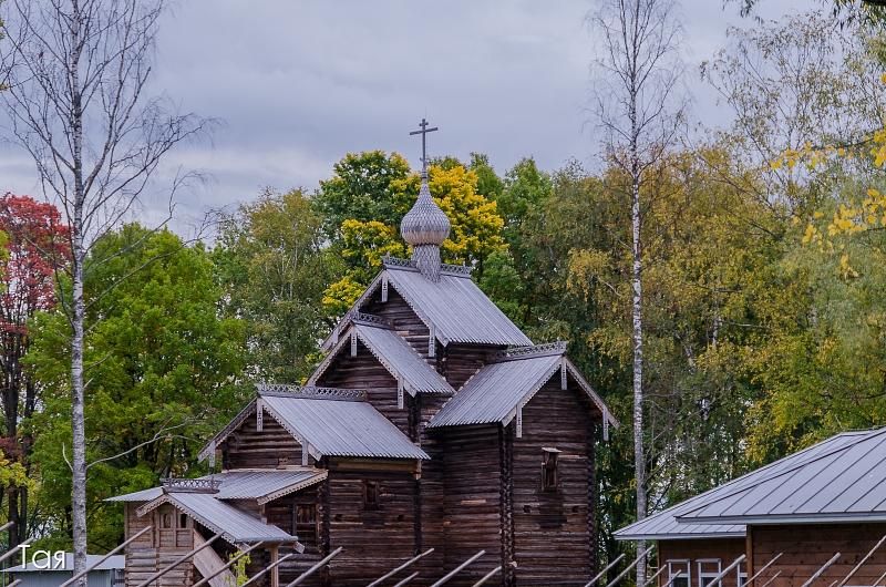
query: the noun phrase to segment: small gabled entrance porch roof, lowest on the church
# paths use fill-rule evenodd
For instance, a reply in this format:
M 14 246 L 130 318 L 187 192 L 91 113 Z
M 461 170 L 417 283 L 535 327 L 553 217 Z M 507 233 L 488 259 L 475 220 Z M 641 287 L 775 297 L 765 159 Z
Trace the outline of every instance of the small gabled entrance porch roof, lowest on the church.
M 220 534 L 233 545 L 297 542 L 295 536 L 272 524 L 265 524 L 227 502 L 216 500 L 212 493 L 165 493 L 140 507 L 137 514 L 143 516 L 165 503 L 172 504 L 210 531 Z

